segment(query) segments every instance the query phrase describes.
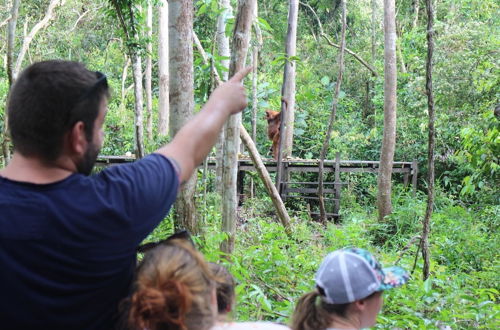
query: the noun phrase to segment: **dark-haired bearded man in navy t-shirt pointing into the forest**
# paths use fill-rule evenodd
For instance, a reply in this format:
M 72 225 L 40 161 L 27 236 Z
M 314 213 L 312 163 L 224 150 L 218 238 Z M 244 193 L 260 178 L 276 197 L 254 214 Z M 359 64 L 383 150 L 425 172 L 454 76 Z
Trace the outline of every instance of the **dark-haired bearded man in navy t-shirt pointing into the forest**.
M 172 142 L 88 176 L 103 142 L 106 77 L 82 64 L 28 67 L 9 95 L 14 155 L 0 170 L 0 327 L 110 329 L 137 245 L 173 204 L 231 114 L 246 106 L 238 72 Z

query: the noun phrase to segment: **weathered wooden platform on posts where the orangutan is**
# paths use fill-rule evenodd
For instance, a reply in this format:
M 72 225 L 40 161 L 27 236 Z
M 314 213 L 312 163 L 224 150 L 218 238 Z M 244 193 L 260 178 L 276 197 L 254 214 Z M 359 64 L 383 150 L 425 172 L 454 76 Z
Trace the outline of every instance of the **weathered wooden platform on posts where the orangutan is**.
M 135 157 L 126 156 L 99 156 L 96 162 L 97 166 L 110 166 L 113 164 L 123 164 L 128 162 L 133 162 Z M 264 158 L 262 159 L 264 165 L 266 166 L 268 172 L 277 171 L 277 161 L 274 159 Z M 377 173 L 379 169 L 379 161 L 371 160 L 342 160 L 340 155 L 337 154 L 335 160 L 325 160 L 324 163 L 324 174 L 326 175 L 333 173 L 334 181 L 326 181 L 324 185 L 324 199 L 325 202 L 329 202 L 332 207 L 331 211 L 327 213 L 330 218 L 337 219 L 339 217 L 340 210 L 340 199 L 342 186 L 345 182 L 340 181 L 340 173 Z M 318 198 L 318 181 L 292 181 L 293 173 L 318 173 L 319 172 L 319 160 L 318 159 L 284 159 L 281 161 L 282 171 L 284 173 L 283 180 L 277 182 L 276 186 L 280 192 L 281 198 L 285 201 L 292 198 L 300 198 L 304 200 L 309 200 L 312 203 L 317 201 Z M 209 169 L 215 169 L 216 162 L 215 158 L 207 158 L 207 167 Z M 250 158 L 245 156 L 240 156 L 238 159 L 238 193 L 240 196 L 245 195 L 245 172 L 255 171 L 255 167 Z M 413 162 L 394 162 L 392 173 L 401 173 L 403 175 L 403 182 L 405 185 L 410 183 L 413 187 L 414 193 L 417 189 L 417 176 L 418 176 L 418 164 L 416 161 Z M 297 175 L 295 175 L 296 177 Z M 317 215 L 317 212 L 311 211 L 311 215 Z

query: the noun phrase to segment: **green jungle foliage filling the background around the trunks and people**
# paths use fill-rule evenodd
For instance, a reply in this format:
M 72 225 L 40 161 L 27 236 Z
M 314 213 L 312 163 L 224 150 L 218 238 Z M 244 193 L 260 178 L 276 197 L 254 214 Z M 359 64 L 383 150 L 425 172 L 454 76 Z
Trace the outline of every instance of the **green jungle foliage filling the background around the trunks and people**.
M 13 4 L 0 2 L 0 128 L 5 127 L 9 90 L 7 30 Z M 46 15 L 47 0 L 20 1 L 14 58 L 32 28 Z M 134 152 L 133 77 L 122 29 L 112 1 L 57 1 L 53 17 L 32 38 L 21 67 L 44 59 L 81 61 L 104 72 L 113 89 L 106 119 L 102 155 Z M 145 25 L 147 1 L 133 1 L 138 26 Z M 334 42 L 341 31 L 340 1 L 303 0 L 297 25 L 296 110 L 293 157 L 319 157 L 333 102 L 338 73 L 338 49 L 321 37 L 322 29 Z M 195 0 L 193 28 L 210 63 L 194 50 L 194 101 L 200 109 L 214 87 L 211 65 L 227 71 L 215 50 L 217 0 Z M 233 12 L 236 1 L 231 1 Z M 375 5 L 375 6 L 373 6 Z M 158 2 L 153 2 L 157 9 Z M 285 63 L 288 3 L 258 1 L 258 26 L 263 46 L 258 65 L 256 145 L 268 155 L 266 109 L 281 107 Z M 394 159 L 417 160 L 416 195 L 393 177 L 393 212 L 379 221 L 376 210 L 377 176 L 342 174 L 341 217 L 322 224 L 311 219 L 307 205 L 287 204 L 291 235 L 276 221 L 269 196 L 254 176 L 255 196 L 238 210 L 235 249 L 226 264 L 237 279 L 239 320 L 288 322 L 298 297 L 313 288 L 314 272 L 323 256 L 346 246 L 374 252 L 383 264 L 398 263 L 412 271 L 411 281 L 388 292 L 377 328 L 466 329 L 500 327 L 500 4 L 496 0 L 435 0 L 433 92 L 436 108 L 436 183 L 431 218 L 431 276 L 422 280 L 418 244 L 427 194 L 427 96 L 425 94 L 426 13 L 424 1 L 397 0 L 397 141 Z M 314 10 L 310 10 L 310 8 Z M 418 8 L 419 10 L 416 10 Z M 157 134 L 158 19 L 153 10 L 150 37 L 153 49 L 153 134 L 145 139 L 152 152 L 169 137 Z M 372 20 L 374 13 L 375 23 Z M 316 16 L 317 15 L 317 16 Z M 378 160 L 383 135 L 384 49 L 382 1 L 347 1 L 346 46 L 370 62 L 377 76 L 345 55 L 345 72 L 327 159 Z M 231 34 L 234 17 L 227 17 Z M 375 31 L 372 39 L 372 28 Z M 148 37 L 144 37 L 147 41 Z M 375 53 L 372 56 L 372 46 Z M 141 48 L 143 54 L 147 52 Z M 249 62 L 249 61 L 247 61 Z M 129 72 L 124 75 L 124 72 Z M 247 79 L 246 85 L 251 85 Z M 368 87 L 369 88 L 368 88 Z M 249 92 L 249 108 L 252 107 Z M 250 111 L 243 123 L 250 131 Z M 5 139 L 5 136 L 3 136 Z M 267 156 L 269 157 L 269 156 Z M 1 161 L 7 160 L 2 157 Z M 198 174 L 195 240 L 207 259 L 220 260 L 221 198 L 213 172 Z M 173 231 L 167 217 L 148 241 Z

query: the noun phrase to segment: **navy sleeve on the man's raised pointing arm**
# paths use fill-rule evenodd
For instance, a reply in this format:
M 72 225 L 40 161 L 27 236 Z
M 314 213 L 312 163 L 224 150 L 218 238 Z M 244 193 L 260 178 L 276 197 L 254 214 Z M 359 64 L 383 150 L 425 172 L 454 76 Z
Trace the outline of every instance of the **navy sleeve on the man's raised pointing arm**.
M 163 220 L 179 188 L 174 164 L 160 154 L 111 166 L 95 180 L 101 203 L 114 210 L 110 221 L 116 230 L 130 235 L 131 244 L 139 244 Z

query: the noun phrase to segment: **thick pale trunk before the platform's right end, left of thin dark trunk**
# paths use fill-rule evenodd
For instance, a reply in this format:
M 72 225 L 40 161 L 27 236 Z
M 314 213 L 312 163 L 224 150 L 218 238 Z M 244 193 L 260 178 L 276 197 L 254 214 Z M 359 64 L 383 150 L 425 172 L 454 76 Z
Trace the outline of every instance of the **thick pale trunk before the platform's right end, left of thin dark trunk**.
M 396 145 L 396 21 L 395 0 L 384 0 L 384 136 L 378 172 L 378 215 L 392 212 L 392 164 Z

